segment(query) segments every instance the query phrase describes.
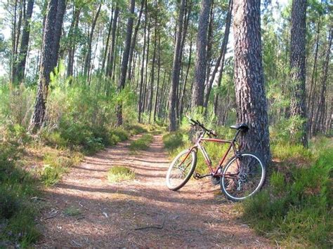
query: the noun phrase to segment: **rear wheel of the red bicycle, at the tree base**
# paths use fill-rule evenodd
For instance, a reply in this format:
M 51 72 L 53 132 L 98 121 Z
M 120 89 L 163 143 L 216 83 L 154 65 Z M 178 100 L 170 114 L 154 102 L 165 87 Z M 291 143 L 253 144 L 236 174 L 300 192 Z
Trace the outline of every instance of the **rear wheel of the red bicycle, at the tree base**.
M 242 153 L 227 163 L 221 177 L 221 190 L 232 201 L 242 201 L 263 186 L 266 167 L 259 156 Z

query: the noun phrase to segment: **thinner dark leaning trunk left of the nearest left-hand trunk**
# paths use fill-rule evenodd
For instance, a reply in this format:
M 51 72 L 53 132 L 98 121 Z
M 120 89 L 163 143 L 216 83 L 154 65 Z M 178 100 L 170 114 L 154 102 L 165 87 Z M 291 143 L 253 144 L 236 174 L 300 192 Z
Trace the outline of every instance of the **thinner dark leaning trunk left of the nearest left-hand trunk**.
M 20 43 L 20 53 L 18 55 L 18 60 L 15 62 L 15 79 L 13 82 L 20 83 L 25 77 L 25 63 L 27 62 L 27 51 L 30 39 L 30 20 L 32 17 L 32 9 L 34 8 L 34 0 L 29 0 L 27 3 L 27 11 L 25 13 L 22 39 Z

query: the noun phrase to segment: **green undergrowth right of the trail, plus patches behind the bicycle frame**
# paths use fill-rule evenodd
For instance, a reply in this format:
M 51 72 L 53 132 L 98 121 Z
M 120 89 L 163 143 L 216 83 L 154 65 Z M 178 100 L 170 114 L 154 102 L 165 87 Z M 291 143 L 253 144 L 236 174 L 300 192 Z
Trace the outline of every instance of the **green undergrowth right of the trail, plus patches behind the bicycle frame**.
M 230 139 L 233 130 L 216 128 L 218 137 Z M 190 128 L 163 136 L 164 147 L 173 159 L 190 147 Z M 257 234 L 287 247 L 332 247 L 332 137 L 313 137 L 309 148 L 291 144 L 281 127 L 270 127 L 273 161 L 263 189 L 234 208 L 240 220 Z M 193 136 L 193 135 L 192 135 Z M 207 153 L 216 166 L 228 144 L 207 143 Z M 208 173 L 203 156 L 197 154 L 196 171 Z

